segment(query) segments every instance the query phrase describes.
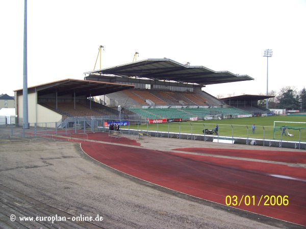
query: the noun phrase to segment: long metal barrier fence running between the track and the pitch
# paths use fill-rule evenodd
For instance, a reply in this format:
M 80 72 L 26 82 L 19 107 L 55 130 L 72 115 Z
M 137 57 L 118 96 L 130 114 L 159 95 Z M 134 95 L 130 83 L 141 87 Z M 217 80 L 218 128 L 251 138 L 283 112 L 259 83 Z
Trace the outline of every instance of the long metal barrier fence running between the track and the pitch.
M 140 138 L 143 134 L 158 137 L 174 137 L 203 141 L 232 142 L 246 145 L 262 145 L 273 147 L 285 147 L 306 149 L 306 129 L 295 128 L 290 130 L 290 135 L 282 133 L 281 129 L 271 126 L 256 126 L 254 131 L 248 125 L 218 125 L 218 132 L 213 133 L 216 124 L 212 123 L 161 123 L 149 124 L 148 121 L 139 120 L 114 120 L 98 118 L 74 117 L 65 122 L 58 123 L 34 123 L 29 129 L 22 126 L 0 125 L 0 141 L 8 139 L 29 139 L 39 136 L 53 136 L 87 139 L 88 133 L 110 132 L 109 124 L 120 125 L 120 136 L 135 136 Z M 207 131 L 204 131 L 207 130 Z M 73 135 L 74 134 L 74 135 Z M 13 136 L 13 137 L 12 137 Z M 22 137 L 21 137 L 22 136 Z M 25 137 L 27 136 L 27 137 Z

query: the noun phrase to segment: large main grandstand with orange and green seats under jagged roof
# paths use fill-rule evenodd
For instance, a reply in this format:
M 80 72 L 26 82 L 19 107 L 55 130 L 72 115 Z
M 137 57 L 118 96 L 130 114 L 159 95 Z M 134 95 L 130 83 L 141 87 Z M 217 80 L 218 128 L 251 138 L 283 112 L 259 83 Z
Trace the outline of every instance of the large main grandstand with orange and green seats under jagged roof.
M 99 98 L 113 109 L 122 107 L 124 114 L 134 119 L 203 120 L 253 114 L 202 91 L 209 84 L 253 80 L 228 71 L 216 72 L 170 59 L 147 59 L 86 72 L 85 79 L 133 85 L 132 89 Z

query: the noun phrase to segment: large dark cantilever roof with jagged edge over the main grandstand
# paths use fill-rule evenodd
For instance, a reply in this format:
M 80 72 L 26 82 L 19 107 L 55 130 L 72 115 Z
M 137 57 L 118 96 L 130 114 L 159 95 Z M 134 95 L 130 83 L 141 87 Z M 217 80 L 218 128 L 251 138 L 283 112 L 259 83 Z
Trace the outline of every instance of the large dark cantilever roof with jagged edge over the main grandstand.
M 141 77 L 156 80 L 197 83 L 201 85 L 253 80 L 248 75 L 237 75 L 228 71 L 213 71 L 203 66 L 187 66 L 170 59 L 147 59 L 111 68 L 85 72 L 85 74 Z

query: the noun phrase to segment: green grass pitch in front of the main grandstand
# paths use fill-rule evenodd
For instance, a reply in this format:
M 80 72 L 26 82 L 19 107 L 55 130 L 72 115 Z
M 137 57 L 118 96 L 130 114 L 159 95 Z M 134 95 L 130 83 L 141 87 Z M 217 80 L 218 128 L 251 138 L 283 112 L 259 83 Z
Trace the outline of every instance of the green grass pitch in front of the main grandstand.
M 253 118 L 239 118 L 239 119 L 225 119 L 225 120 L 206 120 L 183 123 L 163 123 L 163 124 L 142 124 L 131 125 L 130 129 L 139 129 L 143 131 L 161 131 L 161 132 L 176 132 L 176 133 L 192 133 L 203 134 L 203 129 L 213 129 L 216 124 L 219 125 L 219 135 L 228 137 L 249 137 L 260 139 L 274 139 L 273 123 L 274 121 L 283 122 L 306 122 L 306 116 L 268 116 L 268 117 L 253 117 Z M 256 126 L 255 133 L 252 133 L 251 126 Z M 275 128 L 275 139 L 289 140 L 289 141 L 304 141 L 306 142 L 306 124 L 291 124 L 285 123 L 287 127 L 299 127 L 304 129 L 290 129 L 290 134 L 294 136 L 281 136 L 281 128 Z M 122 129 L 129 127 L 122 127 Z

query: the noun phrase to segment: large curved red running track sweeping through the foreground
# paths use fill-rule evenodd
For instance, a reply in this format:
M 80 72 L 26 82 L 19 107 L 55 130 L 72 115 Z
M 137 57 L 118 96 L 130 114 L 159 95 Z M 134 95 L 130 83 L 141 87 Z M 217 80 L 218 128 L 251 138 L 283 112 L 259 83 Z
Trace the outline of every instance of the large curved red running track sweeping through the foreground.
M 81 146 L 92 158 L 139 179 L 222 205 L 227 195 L 236 195 L 237 204 L 242 200 L 240 206 L 236 206 L 239 209 L 306 226 L 304 168 L 97 142 L 82 142 Z M 271 174 L 294 177 L 284 179 Z M 246 195 L 251 196 L 248 206 Z M 272 206 L 274 199 L 271 198 L 272 205 L 269 199 L 270 205 L 264 206 L 268 200 L 265 195 L 288 195 L 289 205 Z

